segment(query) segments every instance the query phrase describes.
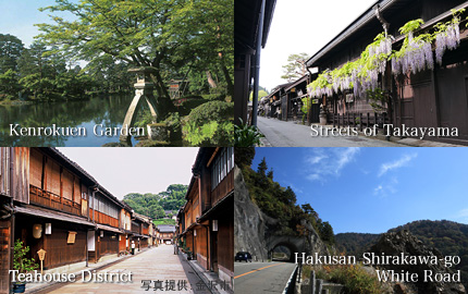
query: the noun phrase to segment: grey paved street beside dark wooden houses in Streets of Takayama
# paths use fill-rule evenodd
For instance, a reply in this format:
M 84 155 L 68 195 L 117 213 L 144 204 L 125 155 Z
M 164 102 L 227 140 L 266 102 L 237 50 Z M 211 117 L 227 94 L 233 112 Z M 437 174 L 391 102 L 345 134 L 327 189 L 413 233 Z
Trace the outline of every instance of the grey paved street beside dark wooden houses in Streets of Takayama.
M 365 136 L 311 136 L 310 126 L 258 117 L 258 128 L 272 147 L 398 147 L 402 145 Z

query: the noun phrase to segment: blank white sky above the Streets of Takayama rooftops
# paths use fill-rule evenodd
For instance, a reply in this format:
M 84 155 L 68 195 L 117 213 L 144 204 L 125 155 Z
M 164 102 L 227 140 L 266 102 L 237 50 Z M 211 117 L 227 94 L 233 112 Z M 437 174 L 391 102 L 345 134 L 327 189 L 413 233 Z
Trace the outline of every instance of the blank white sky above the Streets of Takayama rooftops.
M 267 46 L 261 51 L 260 86 L 270 91 L 282 79 L 287 57 L 313 56 L 377 0 L 276 0 Z

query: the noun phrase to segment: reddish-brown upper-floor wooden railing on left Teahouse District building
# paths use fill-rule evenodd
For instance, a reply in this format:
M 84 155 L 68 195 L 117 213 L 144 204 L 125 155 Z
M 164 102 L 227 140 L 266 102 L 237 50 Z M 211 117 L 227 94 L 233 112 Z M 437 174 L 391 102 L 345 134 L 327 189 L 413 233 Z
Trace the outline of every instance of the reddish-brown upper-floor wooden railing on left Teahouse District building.
M 54 208 L 64 212 L 81 216 L 82 205 L 60 195 L 29 185 L 29 201 L 41 206 Z

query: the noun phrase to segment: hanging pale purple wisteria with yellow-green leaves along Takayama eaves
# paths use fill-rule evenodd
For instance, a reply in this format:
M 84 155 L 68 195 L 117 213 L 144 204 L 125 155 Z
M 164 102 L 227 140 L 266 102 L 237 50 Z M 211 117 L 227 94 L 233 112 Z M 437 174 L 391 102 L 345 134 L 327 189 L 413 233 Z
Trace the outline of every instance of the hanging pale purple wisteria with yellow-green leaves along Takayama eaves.
M 405 35 L 403 46 L 398 51 L 392 51 L 394 38 L 380 34 L 374 41 L 361 53 L 360 58 L 347 62 L 333 71 L 327 70 L 308 85 L 310 97 L 332 96 L 340 90 L 353 89 L 355 97 L 364 97 L 368 90 L 378 88 L 379 75 L 384 74 L 386 64 L 392 62 L 394 75 L 405 74 L 411 71 L 416 74 L 420 71 L 434 69 L 434 56 L 432 52 L 435 40 L 435 59 L 442 64 L 444 52 L 456 49 L 460 44 L 460 14 L 465 10 L 453 10 L 453 20 L 448 23 L 439 23 L 434 26 L 434 34 L 420 34 L 415 37 L 415 32 L 420 29 L 422 20 L 410 21 L 399 28 Z M 468 26 L 468 25 L 467 25 Z

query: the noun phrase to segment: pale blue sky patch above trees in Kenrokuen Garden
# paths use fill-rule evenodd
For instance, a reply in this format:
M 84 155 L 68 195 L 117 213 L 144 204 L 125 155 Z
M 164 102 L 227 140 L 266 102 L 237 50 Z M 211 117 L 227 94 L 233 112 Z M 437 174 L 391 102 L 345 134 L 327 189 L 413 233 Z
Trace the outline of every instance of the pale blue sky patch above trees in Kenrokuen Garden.
M 39 34 L 34 25 L 50 22 L 50 12 L 39 12 L 38 9 L 54 3 L 54 0 L 0 0 L 0 34 L 14 35 L 28 47 Z M 66 14 L 57 15 L 64 17 Z

